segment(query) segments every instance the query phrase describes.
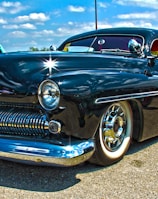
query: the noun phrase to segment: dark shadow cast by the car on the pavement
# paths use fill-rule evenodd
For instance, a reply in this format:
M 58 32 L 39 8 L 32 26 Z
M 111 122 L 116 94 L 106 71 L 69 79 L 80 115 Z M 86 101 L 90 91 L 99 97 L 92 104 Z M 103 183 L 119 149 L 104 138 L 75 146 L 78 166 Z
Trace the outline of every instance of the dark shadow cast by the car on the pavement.
M 134 143 L 127 155 L 139 152 L 158 142 L 158 137 L 142 143 Z M 0 186 L 36 192 L 56 192 L 80 182 L 77 174 L 106 169 L 83 163 L 74 167 L 50 167 L 26 165 L 0 160 Z

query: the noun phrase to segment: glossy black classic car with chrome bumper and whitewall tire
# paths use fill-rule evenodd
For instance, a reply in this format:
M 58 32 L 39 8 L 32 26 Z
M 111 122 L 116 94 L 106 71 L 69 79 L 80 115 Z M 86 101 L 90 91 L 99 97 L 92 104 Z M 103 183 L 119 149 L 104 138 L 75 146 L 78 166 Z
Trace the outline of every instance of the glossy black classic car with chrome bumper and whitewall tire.
M 111 28 L 56 51 L 0 54 L 0 158 L 119 161 L 158 135 L 158 30 Z

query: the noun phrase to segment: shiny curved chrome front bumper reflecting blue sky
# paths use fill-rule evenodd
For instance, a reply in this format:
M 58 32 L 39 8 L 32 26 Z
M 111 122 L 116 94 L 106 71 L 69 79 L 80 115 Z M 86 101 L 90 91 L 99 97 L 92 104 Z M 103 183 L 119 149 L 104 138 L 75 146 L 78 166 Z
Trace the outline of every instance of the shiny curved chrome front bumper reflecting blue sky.
M 39 165 L 74 166 L 94 153 L 93 140 L 72 140 L 61 146 L 51 143 L 0 138 L 0 158 Z

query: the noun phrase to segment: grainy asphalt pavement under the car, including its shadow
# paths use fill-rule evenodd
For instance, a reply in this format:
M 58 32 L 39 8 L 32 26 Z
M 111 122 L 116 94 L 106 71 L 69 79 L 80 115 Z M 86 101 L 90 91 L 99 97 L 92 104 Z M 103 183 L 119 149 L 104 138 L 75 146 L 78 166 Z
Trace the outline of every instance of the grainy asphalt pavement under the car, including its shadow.
M 0 160 L 1 199 L 158 199 L 158 137 L 134 143 L 120 162 L 39 167 Z

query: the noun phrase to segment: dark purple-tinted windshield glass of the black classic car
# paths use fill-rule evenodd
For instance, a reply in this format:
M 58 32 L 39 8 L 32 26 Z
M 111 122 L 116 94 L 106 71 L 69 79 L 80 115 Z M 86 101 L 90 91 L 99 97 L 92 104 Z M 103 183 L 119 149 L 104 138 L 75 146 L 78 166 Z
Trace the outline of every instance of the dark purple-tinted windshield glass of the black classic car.
M 72 47 L 88 47 L 94 51 L 129 52 L 128 44 L 132 39 L 143 46 L 143 38 L 138 35 L 101 35 L 71 41 L 64 46 L 63 51 L 69 51 Z

